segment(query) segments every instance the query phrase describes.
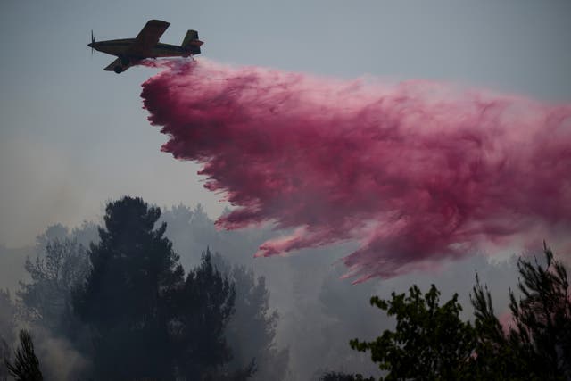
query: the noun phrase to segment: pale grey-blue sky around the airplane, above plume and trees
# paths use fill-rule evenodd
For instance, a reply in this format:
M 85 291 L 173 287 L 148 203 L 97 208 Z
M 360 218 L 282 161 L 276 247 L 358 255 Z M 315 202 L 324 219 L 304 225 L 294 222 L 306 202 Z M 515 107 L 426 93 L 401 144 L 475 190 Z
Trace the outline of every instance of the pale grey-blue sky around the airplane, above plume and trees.
M 170 22 L 161 42 L 197 29 L 203 56 L 354 79 L 433 79 L 571 101 L 571 2 L 562 1 L 29 1 L 0 4 L 0 244 L 46 226 L 96 219 L 104 203 L 224 208 L 198 167 L 161 153 L 140 84 L 156 70 L 103 71 L 87 47 Z

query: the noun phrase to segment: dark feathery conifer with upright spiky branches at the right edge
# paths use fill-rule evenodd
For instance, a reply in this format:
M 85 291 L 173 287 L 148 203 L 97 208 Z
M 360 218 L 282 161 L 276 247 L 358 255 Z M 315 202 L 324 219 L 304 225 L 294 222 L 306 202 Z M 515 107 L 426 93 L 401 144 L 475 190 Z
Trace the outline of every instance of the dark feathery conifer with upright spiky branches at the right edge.
M 509 290 L 513 325 L 501 327 L 492 298 L 476 274 L 471 296 L 478 332 L 477 367 L 483 377 L 505 379 L 571 378 L 571 300 L 567 271 L 543 244 L 545 267 L 535 260 L 517 262 L 522 298 Z M 507 333 L 504 333 L 504 328 Z

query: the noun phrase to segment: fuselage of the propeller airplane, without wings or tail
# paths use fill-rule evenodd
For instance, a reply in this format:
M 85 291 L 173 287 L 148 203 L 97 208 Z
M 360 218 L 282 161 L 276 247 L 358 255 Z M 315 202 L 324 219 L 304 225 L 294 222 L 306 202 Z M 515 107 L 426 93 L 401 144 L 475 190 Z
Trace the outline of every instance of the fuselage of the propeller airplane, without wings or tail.
M 112 39 L 108 41 L 97 41 L 88 46 L 93 47 L 99 52 L 116 55 L 118 57 L 126 57 L 136 60 L 145 58 L 160 57 L 188 57 L 190 52 L 181 46 L 158 43 L 152 49 L 145 52 L 132 52 L 135 38 Z

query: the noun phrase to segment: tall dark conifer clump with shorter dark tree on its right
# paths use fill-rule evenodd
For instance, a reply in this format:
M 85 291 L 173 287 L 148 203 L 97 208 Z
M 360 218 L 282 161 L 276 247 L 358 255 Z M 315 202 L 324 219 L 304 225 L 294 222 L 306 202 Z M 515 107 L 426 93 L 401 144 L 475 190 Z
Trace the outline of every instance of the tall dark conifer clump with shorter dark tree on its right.
M 90 245 L 91 268 L 73 307 L 93 335 L 94 376 L 246 377 L 252 369 L 220 373 L 231 359 L 224 334 L 234 285 L 210 251 L 185 277 L 160 217 L 159 208 L 124 197 L 107 205 L 99 242 Z

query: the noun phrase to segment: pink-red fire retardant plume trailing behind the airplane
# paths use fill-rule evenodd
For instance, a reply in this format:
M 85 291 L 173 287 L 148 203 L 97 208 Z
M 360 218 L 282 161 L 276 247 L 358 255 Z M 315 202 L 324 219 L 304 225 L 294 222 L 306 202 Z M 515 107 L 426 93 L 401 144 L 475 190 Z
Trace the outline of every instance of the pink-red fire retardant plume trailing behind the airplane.
M 571 105 L 426 81 L 337 81 L 209 61 L 148 79 L 162 150 L 203 164 L 238 208 L 290 236 L 256 256 L 357 240 L 348 276 L 393 277 L 488 244 L 571 230 Z

